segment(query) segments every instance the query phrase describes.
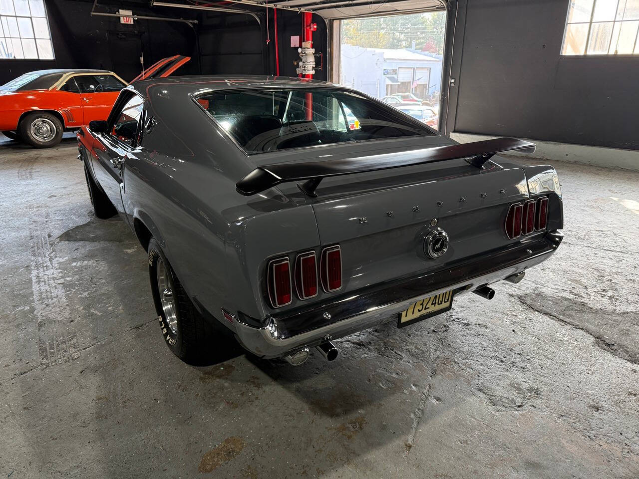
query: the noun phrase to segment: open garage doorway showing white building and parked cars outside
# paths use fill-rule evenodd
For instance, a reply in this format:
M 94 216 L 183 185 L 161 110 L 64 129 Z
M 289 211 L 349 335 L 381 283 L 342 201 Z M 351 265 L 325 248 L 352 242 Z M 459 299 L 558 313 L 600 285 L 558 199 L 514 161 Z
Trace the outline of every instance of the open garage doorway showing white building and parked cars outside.
M 337 20 L 334 81 L 438 128 L 446 11 Z

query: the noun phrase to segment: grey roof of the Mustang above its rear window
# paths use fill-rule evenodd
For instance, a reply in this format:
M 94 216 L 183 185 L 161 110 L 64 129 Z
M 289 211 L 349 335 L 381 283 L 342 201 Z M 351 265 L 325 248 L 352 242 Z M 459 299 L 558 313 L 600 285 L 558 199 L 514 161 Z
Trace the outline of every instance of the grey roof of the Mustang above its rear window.
M 172 88 L 183 91 L 190 89 L 192 92 L 207 91 L 225 91 L 245 88 L 260 87 L 332 87 L 342 88 L 340 85 L 323 82 L 320 80 L 303 79 L 298 77 L 272 77 L 265 75 L 196 75 L 196 76 L 177 76 L 157 78 L 151 80 L 139 80 L 132 83 L 132 88 L 140 91 L 148 91 L 152 87 L 162 86 L 163 89 L 170 90 Z

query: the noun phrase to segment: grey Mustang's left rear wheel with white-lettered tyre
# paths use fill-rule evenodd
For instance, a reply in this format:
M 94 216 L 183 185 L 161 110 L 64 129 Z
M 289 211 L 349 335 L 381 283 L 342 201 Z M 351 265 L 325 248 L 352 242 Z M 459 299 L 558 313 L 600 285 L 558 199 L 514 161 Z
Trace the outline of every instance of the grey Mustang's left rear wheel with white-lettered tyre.
M 148 253 L 151 291 L 164 341 L 186 363 L 212 363 L 217 349 L 217 328 L 199 314 L 153 238 Z

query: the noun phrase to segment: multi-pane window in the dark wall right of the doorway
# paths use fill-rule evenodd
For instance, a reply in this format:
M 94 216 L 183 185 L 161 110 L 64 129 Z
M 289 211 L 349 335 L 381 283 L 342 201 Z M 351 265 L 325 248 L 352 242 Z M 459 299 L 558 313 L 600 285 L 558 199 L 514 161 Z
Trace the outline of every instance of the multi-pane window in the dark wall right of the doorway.
M 639 54 L 639 0 L 571 0 L 562 55 Z

